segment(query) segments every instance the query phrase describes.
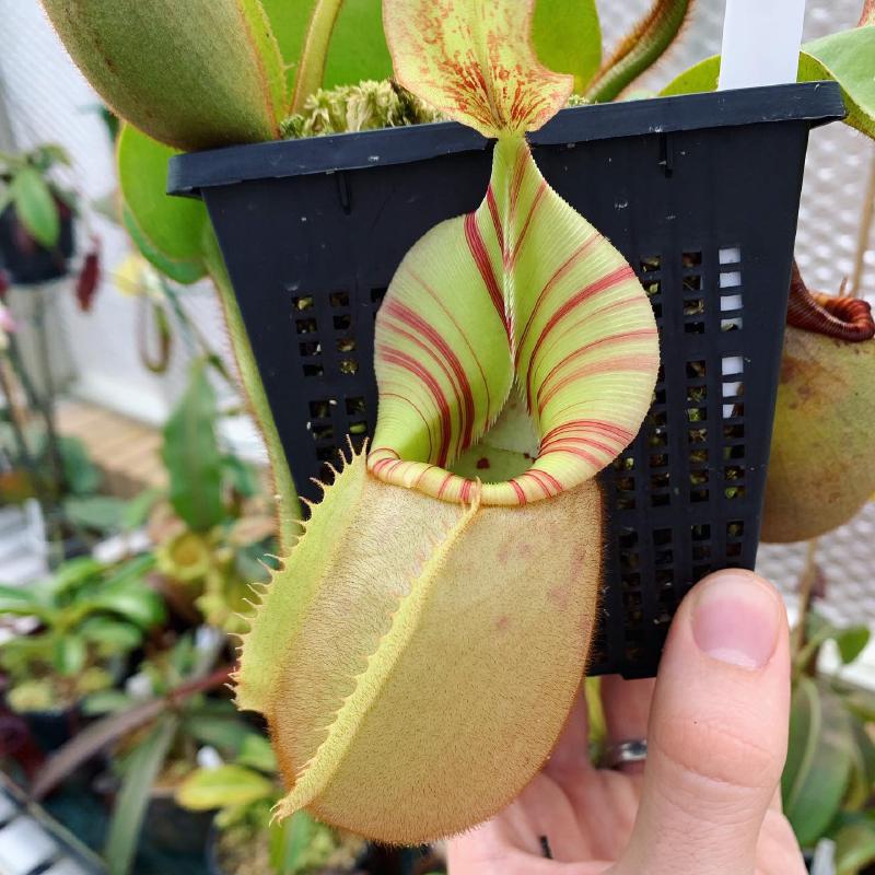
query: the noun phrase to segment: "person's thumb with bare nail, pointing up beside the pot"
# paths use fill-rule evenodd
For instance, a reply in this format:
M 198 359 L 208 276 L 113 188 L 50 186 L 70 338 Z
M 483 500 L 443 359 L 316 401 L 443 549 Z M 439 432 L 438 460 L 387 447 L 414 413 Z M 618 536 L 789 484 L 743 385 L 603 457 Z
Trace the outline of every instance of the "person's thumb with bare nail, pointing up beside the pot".
M 780 596 L 750 572 L 713 574 L 687 596 L 660 666 L 618 873 L 752 875 L 786 756 L 788 638 Z

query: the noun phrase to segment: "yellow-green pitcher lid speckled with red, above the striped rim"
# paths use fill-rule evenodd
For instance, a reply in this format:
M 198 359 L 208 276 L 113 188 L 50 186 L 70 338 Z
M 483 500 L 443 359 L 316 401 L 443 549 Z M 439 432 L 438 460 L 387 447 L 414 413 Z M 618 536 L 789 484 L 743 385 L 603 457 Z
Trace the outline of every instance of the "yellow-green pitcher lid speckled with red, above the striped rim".
M 574 79 L 538 61 L 532 7 L 533 0 L 470 0 L 444 14 L 429 0 L 384 0 L 395 78 L 485 137 L 537 130 L 565 105 Z

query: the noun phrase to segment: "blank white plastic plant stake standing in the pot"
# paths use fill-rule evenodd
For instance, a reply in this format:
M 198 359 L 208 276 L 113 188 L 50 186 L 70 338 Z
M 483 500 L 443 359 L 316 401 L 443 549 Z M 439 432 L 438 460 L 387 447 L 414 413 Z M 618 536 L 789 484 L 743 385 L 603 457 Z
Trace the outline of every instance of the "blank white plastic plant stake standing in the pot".
M 726 0 L 720 90 L 796 81 L 805 0 Z

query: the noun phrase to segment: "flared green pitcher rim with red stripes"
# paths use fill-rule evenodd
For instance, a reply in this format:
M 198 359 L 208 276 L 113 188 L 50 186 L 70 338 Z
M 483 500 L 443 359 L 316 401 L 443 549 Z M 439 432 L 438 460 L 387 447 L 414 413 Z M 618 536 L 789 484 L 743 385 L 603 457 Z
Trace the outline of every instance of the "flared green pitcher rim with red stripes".
M 479 209 L 439 225 L 401 262 L 377 316 L 375 361 L 371 471 L 447 501 L 470 499 L 453 460 L 520 387 L 537 458 L 480 495 L 512 505 L 576 486 L 622 452 L 650 406 L 658 342 L 632 269 L 550 188 L 525 140 L 504 136 Z

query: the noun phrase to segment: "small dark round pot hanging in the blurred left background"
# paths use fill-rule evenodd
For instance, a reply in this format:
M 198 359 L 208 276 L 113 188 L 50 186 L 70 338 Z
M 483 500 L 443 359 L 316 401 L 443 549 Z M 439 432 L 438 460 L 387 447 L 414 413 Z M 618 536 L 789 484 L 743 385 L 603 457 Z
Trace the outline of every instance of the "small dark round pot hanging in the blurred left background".
M 24 229 L 12 207 L 0 213 L 0 269 L 9 273 L 15 285 L 39 285 L 66 277 L 72 258 L 73 214 L 66 203 L 58 202 L 61 231 L 58 244 L 47 249 Z

